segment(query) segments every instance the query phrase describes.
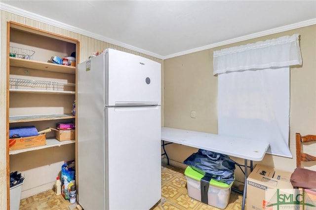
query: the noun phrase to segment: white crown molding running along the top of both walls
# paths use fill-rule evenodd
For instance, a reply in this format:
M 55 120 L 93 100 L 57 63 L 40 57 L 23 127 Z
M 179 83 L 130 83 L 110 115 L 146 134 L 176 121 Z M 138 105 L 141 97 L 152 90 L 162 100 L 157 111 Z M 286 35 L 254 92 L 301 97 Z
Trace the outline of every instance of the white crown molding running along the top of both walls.
M 302 21 L 302 22 L 299 22 L 299 23 L 290 24 L 290 25 L 287 25 L 287 26 L 278 27 L 278 28 L 275 28 L 275 29 L 266 30 L 266 31 L 263 31 L 263 32 L 258 32 L 258 33 L 254 33 L 254 34 L 250 34 L 250 35 L 244 35 L 244 36 L 240 36 L 240 37 L 237 37 L 237 38 L 233 38 L 233 39 L 229 39 L 229 40 L 225 40 L 225 41 L 221 41 L 221 42 L 216 42 L 216 43 L 213 43 L 213 44 L 197 47 L 197 48 L 194 48 L 194 49 L 190 49 L 190 50 L 186 50 L 186 51 L 170 54 L 170 55 L 167 55 L 167 56 L 162 56 L 162 55 L 158 55 L 156 53 L 153 53 L 153 52 L 150 52 L 150 51 L 138 48 L 138 47 L 134 47 L 132 45 L 129 45 L 129 44 L 126 44 L 126 43 L 123 43 L 123 42 L 120 42 L 120 41 L 115 40 L 115 39 L 111 39 L 111 38 L 108 38 L 108 37 L 105 37 L 105 36 L 102 36 L 102 35 L 97 35 L 97 34 L 89 32 L 89 31 L 82 30 L 80 28 L 77 28 L 77 27 L 74 27 L 74 26 L 71 26 L 71 25 L 68 25 L 68 24 L 65 24 L 65 23 L 62 23 L 62 22 L 59 22 L 59 21 L 56 21 L 56 20 L 44 17 L 44 16 L 41 16 L 41 15 L 38 15 L 38 14 L 35 14 L 35 13 L 29 12 L 29 11 L 26 11 L 26 10 L 23 10 L 23 9 L 20 9 L 20 8 L 17 8 L 17 7 L 14 7 L 14 6 L 5 4 L 5 3 L 2 3 L 1 1 L 0 1 L 0 10 L 4 10 L 4 11 L 7 11 L 7 12 L 11 12 L 13 14 L 21 15 L 23 17 L 30 18 L 30 19 L 33 19 L 33 20 L 36 20 L 36 21 L 39 21 L 39 22 L 42 22 L 42 23 L 45 23 L 45 24 L 49 24 L 49 25 L 52 25 L 52 26 L 55 26 L 55 27 L 58 27 L 58 28 L 66 29 L 66 30 L 69 30 L 71 32 L 78 33 L 80 35 L 89 36 L 91 38 L 95 38 L 95 39 L 98 39 L 98 40 L 101 40 L 101 41 L 105 41 L 105 42 L 108 42 L 110 44 L 115 44 L 115 45 L 118 45 L 120 47 L 124 47 L 126 49 L 130 49 L 130 50 L 133 50 L 133 51 L 136 51 L 136 52 L 139 52 L 139 53 L 143 53 L 143 54 L 146 54 L 146 55 L 149 55 L 149 56 L 153 56 L 155 58 L 162 59 L 162 60 L 169 59 L 169 58 L 174 58 L 174 57 L 177 57 L 177 56 L 186 55 L 186 54 L 190 54 L 190 53 L 194 53 L 194 52 L 197 52 L 197 51 L 206 50 L 206 49 L 210 49 L 210 48 L 214 48 L 214 47 L 219 47 L 219 46 L 223 46 L 223 45 L 226 45 L 226 44 L 232 44 L 232 43 L 236 43 L 236 42 L 239 42 L 239 41 L 244 41 L 244 40 L 247 40 L 247 39 L 257 38 L 257 37 L 261 37 L 261 36 L 265 36 L 265 35 L 272 35 L 272 34 L 284 32 L 284 31 L 297 29 L 297 28 L 302 28 L 302 27 L 311 26 L 311 25 L 315 25 L 316 24 L 316 18 L 315 18 L 315 19 L 311 19 L 311 20 Z

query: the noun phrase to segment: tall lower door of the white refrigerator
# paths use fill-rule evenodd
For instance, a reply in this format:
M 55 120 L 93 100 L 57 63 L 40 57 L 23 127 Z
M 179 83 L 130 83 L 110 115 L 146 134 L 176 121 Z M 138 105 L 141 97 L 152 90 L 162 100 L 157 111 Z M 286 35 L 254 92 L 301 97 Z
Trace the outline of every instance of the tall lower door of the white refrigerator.
M 105 109 L 108 210 L 149 210 L 161 199 L 160 106 Z

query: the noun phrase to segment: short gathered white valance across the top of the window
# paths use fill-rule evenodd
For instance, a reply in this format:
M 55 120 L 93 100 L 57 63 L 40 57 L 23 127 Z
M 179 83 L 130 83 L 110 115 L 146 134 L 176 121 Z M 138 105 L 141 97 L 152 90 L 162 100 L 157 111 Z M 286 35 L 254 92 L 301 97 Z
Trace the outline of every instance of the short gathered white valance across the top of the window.
M 214 51 L 213 74 L 301 65 L 299 35 Z

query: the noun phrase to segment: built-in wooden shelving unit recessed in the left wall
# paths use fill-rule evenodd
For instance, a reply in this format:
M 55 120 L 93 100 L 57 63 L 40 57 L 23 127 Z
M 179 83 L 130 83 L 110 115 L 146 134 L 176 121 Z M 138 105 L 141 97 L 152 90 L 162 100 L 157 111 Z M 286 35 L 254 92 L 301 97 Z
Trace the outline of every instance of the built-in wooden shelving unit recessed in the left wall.
M 22 54 L 19 53 L 20 51 L 15 51 L 19 49 L 26 51 L 21 51 Z M 7 134 L 9 128 L 13 127 L 35 126 L 41 131 L 47 127 L 56 127 L 57 122 L 76 122 L 76 116 L 71 112 L 73 103 L 77 99 L 77 67 L 50 62 L 52 56 L 65 58 L 73 55 L 74 52 L 77 66 L 78 40 L 19 23 L 7 23 Z M 26 56 L 23 56 L 23 53 Z M 51 175 L 60 173 L 56 170 L 61 166 L 60 161 L 69 161 L 69 158 L 76 159 L 78 155 L 76 139 L 59 141 L 55 137 L 55 132 L 46 134 L 46 145 L 12 150 L 9 147 L 9 135 L 7 135 L 6 144 L 8 201 L 10 200 L 9 172 L 11 168 L 15 168 L 13 171 L 24 169 L 29 177 L 40 174 L 41 184 L 25 179 L 25 182 L 28 182 L 26 190 L 37 194 L 42 190 L 47 190 L 43 188 L 43 185 L 49 187 L 55 181 Z M 64 146 L 67 144 L 75 144 L 75 146 Z M 44 151 L 50 147 L 59 148 Z M 72 148 L 71 151 L 69 148 Z M 34 150 L 42 150 L 40 154 L 44 158 L 41 159 L 35 155 L 37 153 L 30 152 Z M 52 151 L 58 151 L 58 155 L 49 154 Z M 69 154 L 72 156 L 70 157 Z M 35 164 L 31 161 L 25 167 L 19 161 L 20 157 L 34 160 Z M 39 171 L 40 167 L 36 165 L 37 159 L 41 159 L 40 166 L 45 166 L 44 171 Z M 7 206 L 9 209 L 9 202 Z

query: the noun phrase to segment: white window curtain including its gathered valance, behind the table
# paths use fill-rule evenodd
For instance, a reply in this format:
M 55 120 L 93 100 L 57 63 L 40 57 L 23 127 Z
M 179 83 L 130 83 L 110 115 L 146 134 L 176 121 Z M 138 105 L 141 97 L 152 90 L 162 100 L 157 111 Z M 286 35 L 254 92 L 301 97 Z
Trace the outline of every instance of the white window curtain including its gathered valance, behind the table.
M 292 157 L 289 66 L 302 64 L 299 35 L 215 51 L 213 64 L 218 134 L 268 141 L 268 153 Z

